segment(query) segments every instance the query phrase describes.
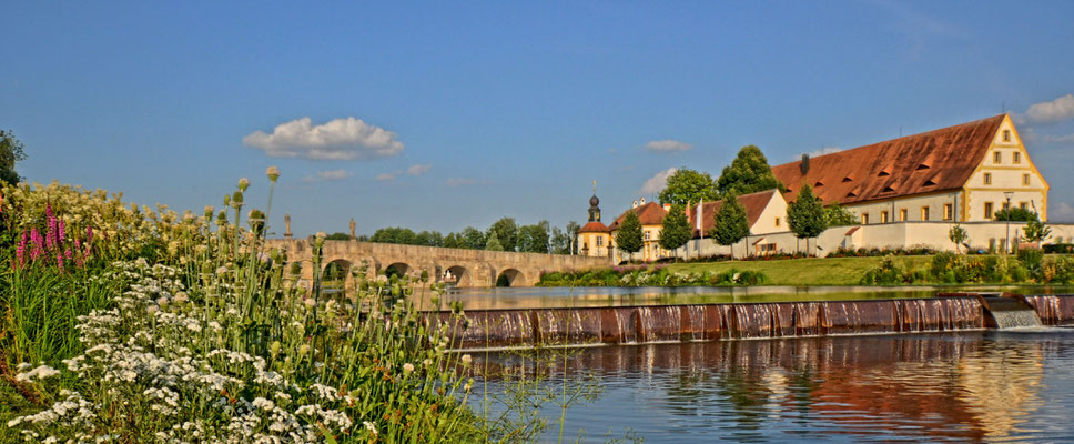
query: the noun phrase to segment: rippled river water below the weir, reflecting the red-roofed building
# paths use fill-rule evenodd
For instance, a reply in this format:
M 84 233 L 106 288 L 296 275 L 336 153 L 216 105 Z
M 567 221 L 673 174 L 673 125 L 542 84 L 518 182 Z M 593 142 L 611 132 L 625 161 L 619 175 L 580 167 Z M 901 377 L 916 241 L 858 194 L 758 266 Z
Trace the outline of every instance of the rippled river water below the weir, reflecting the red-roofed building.
M 587 349 L 553 373 L 600 379 L 567 420 L 595 441 L 627 426 L 646 442 L 1065 441 L 1071 350 L 1060 329 L 723 341 Z

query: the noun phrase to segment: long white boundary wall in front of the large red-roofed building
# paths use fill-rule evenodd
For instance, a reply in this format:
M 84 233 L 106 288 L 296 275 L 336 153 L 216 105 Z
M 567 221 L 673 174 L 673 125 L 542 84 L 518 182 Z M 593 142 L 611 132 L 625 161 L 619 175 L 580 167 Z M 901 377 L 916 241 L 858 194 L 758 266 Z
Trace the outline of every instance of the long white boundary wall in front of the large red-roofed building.
M 894 222 L 884 224 L 849 225 L 828 229 L 815 239 L 809 240 L 809 253 L 824 256 L 834 252 L 839 248 L 844 249 L 910 249 L 926 246 L 935 250 L 955 251 L 955 245 L 948 239 L 948 232 L 954 226 L 954 222 Z M 1006 222 L 963 222 L 962 228 L 966 230 L 969 240 L 966 243 L 972 250 L 987 251 L 990 244 L 994 242 L 996 249 L 1002 248 L 1006 240 Z M 1016 242 L 1022 235 L 1022 228 L 1025 222 L 1011 222 L 1011 242 Z M 1047 224 L 1052 229 L 1052 235 L 1044 243 L 1057 243 L 1060 241 L 1071 243 L 1074 241 L 1074 224 Z M 751 235 L 733 245 L 734 256 L 742 258 L 747 254 L 757 255 L 757 245 L 776 244 L 777 253 L 793 253 L 806 251 L 806 240 L 794 236 L 789 231 L 779 233 L 768 233 Z M 965 248 L 963 246 L 964 251 Z M 691 240 L 685 249 L 679 249 L 676 254 L 679 256 L 697 258 L 720 254 L 730 254 L 731 249 L 719 245 L 711 239 Z

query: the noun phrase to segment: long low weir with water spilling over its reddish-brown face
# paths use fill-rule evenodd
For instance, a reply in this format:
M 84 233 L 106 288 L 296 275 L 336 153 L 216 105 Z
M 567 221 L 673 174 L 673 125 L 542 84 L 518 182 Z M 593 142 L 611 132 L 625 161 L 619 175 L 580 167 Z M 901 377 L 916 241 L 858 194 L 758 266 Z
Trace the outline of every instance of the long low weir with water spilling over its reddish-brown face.
M 891 334 L 1074 324 L 1074 295 L 430 312 L 453 349 Z

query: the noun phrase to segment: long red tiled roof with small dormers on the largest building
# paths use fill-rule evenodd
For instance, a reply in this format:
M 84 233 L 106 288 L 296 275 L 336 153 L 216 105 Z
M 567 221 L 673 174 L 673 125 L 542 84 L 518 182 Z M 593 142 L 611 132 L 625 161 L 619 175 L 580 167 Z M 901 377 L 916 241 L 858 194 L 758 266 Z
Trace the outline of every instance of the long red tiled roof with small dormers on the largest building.
M 1006 114 L 819 155 L 809 172 L 801 161 L 772 168 L 793 201 L 802 184 L 825 204 L 859 203 L 880 199 L 958 190 L 987 155 Z

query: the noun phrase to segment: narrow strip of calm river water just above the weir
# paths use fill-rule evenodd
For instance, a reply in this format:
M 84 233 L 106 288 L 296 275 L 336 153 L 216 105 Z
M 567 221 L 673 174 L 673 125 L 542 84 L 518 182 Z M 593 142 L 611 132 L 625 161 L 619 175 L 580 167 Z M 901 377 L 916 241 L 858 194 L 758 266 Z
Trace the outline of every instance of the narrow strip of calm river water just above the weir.
M 848 301 L 929 297 L 938 292 L 1002 292 L 1021 294 L 1074 293 L 1071 286 L 641 286 L 641 287 L 506 287 L 464 289 L 440 297 L 439 306 L 462 301 L 466 310 L 683 305 L 751 302 Z M 421 306 L 435 310 L 430 294 L 415 295 Z

